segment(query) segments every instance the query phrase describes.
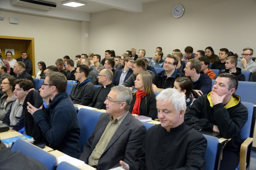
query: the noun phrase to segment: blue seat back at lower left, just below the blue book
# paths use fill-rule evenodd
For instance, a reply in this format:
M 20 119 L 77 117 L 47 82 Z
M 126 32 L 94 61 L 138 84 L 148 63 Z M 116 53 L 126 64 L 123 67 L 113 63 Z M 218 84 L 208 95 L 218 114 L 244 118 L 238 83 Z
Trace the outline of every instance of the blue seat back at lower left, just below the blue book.
M 20 151 L 26 156 L 39 160 L 48 169 L 55 169 L 57 166 L 57 159 L 55 156 L 22 139 L 16 140 L 11 150 L 13 152 Z

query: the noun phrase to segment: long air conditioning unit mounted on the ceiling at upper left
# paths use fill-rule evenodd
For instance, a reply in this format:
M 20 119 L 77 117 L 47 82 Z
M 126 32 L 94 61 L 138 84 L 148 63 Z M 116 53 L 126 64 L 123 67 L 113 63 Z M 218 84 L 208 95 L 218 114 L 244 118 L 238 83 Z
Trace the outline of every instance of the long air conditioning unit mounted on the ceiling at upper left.
M 10 0 L 11 5 L 30 8 L 40 11 L 52 11 L 56 9 L 56 4 L 39 0 Z

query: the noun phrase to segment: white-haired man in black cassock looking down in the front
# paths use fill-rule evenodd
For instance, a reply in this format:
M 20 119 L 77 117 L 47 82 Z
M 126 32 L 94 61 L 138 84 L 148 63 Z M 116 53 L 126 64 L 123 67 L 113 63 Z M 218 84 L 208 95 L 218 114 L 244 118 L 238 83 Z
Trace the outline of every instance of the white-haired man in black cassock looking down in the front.
M 148 129 L 140 155 L 135 162 L 121 160 L 125 170 L 204 169 L 207 140 L 184 122 L 184 94 L 165 89 L 156 96 L 161 124 Z

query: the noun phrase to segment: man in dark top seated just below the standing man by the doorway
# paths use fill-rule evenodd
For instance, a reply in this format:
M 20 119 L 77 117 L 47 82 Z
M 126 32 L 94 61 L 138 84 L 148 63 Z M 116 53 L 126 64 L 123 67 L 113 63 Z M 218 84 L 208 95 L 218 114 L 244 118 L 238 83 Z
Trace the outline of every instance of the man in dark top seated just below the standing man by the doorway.
M 16 62 L 13 66 L 13 72 L 16 74 L 16 79 L 28 79 L 34 84 L 32 76 L 25 71 L 25 64 L 23 62 Z

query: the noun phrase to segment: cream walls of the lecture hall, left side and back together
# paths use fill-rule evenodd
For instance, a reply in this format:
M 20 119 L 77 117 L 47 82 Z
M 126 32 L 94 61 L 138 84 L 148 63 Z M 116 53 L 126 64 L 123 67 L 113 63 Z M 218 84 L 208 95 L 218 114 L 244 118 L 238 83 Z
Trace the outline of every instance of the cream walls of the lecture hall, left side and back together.
M 172 7 L 180 3 L 185 12 L 174 18 Z M 71 21 L 0 11 L 0 35 L 34 37 L 35 61 L 46 65 L 64 55 L 100 54 L 107 49 L 122 55 L 130 48 L 145 49 L 153 57 L 155 48 L 164 55 L 173 49 L 184 52 L 211 46 L 215 53 L 227 48 L 239 55 L 245 47 L 256 50 L 255 0 L 158 0 L 143 4 L 143 13 L 108 10 L 90 14 L 90 22 Z M 19 18 L 10 24 L 9 16 Z M 89 33 L 89 38 L 84 37 Z M 38 71 L 36 68 L 35 72 Z

